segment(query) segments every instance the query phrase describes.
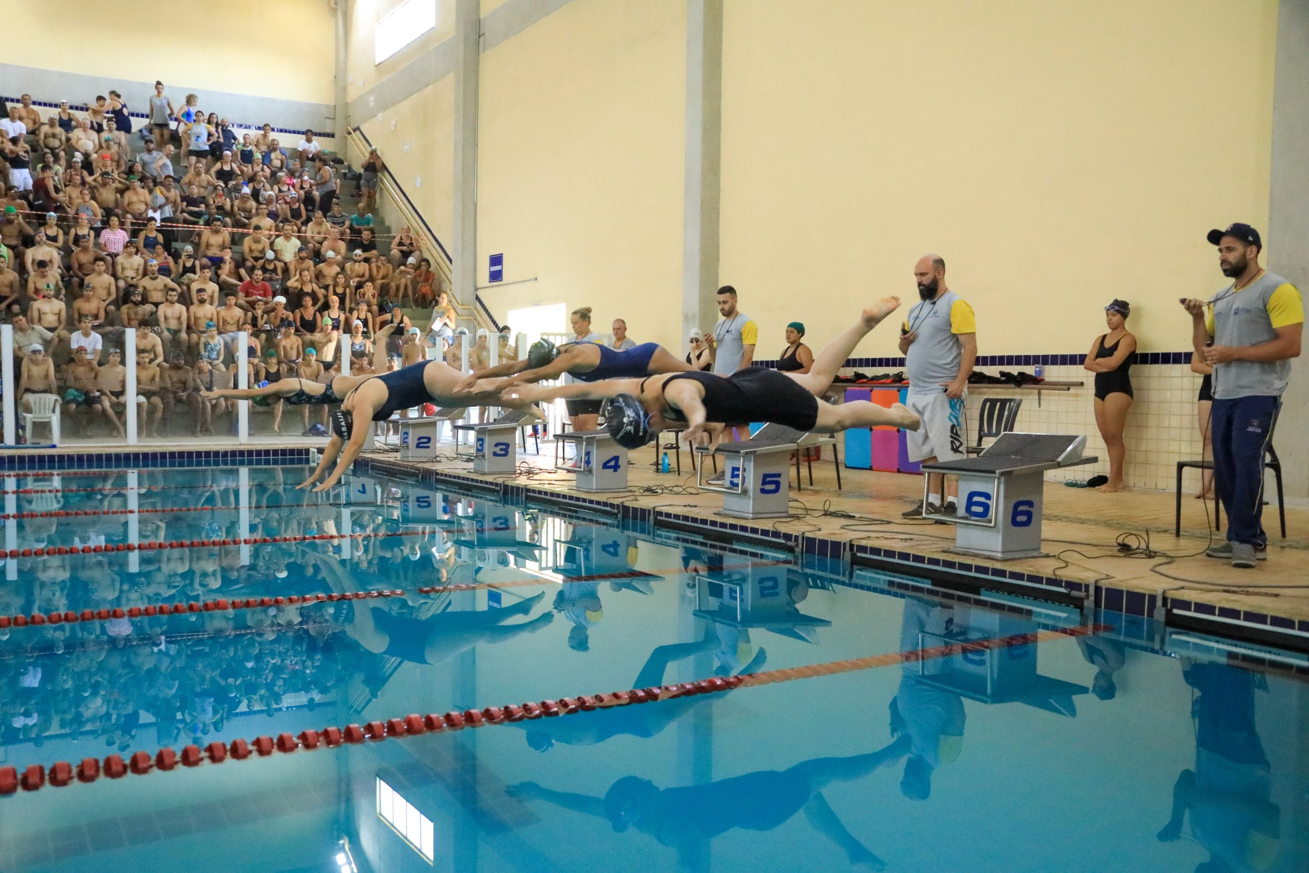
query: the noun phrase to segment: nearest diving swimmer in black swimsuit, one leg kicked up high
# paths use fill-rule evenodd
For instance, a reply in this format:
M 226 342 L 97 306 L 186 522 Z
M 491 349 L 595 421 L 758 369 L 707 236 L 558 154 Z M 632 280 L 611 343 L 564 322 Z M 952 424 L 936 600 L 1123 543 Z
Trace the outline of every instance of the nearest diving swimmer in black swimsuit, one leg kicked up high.
M 505 397 L 520 402 L 565 398 L 613 398 L 606 427 L 619 445 L 635 449 L 658 431 L 683 429 L 686 441 L 716 440 L 725 424 L 775 421 L 797 431 L 835 433 L 878 424 L 916 431 L 919 418 L 901 403 L 891 407 L 868 401 L 834 406 L 819 399 L 836 372 L 868 331 L 899 308 L 899 297 L 884 297 L 863 312 L 853 327 L 827 343 L 808 373 L 778 373 L 747 366 L 728 378 L 704 372 L 607 380 L 560 387 L 520 386 Z

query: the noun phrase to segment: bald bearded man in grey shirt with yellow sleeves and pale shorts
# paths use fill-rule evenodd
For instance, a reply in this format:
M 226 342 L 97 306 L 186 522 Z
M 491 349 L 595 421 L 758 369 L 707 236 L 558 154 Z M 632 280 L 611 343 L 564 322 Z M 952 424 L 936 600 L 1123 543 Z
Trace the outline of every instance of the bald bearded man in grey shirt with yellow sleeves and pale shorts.
M 908 432 L 910 461 L 957 461 L 963 457 L 963 401 L 977 363 L 977 319 L 973 308 L 945 285 L 945 260 L 923 255 L 914 266 L 919 302 L 901 326 L 899 349 L 908 370 L 908 406 L 923 420 Z M 942 488 L 931 475 L 927 510 L 956 513 L 958 482 Z M 942 505 L 942 495 L 945 503 Z M 923 507 L 903 513 L 918 518 Z

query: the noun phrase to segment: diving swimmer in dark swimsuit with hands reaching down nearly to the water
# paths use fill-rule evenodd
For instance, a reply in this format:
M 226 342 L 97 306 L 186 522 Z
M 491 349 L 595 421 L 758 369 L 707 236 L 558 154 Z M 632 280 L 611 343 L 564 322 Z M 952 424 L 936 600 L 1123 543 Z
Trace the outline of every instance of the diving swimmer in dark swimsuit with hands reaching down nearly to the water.
M 374 346 L 373 353 L 381 349 L 386 352 L 386 343 Z M 373 421 L 385 421 L 394 412 L 408 410 L 423 403 L 436 406 L 504 406 L 520 407 L 530 406 L 526 401 L 514 401 L 504 397 L 500 389 L 461 391 L 459 382 L 463 373 L 446 366 L 442 361 L 419 361 L 391 373 L 382 373 L 367 378 L 355 386 L 342 401 L 340 408 L 331 416 L 331 440 L 323 449 L 322 461 L 318 467 L 309 474 L 309 478 L 297 486 L 308 488 L 327 467 L 335 462 L 336 466 L 322 484 L 314 491 L 326 491 L 350 470 L 355 458 L 368 441 L 368 432 Z M 538 411 L 541 419 L 546 416 Z M 339 455 L 339 458 L 338 458 Z

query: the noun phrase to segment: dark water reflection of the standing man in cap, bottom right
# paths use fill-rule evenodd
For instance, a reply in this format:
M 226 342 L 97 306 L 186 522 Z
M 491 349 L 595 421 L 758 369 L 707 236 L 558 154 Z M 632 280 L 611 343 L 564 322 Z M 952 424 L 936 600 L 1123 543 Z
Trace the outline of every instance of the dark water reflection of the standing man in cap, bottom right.
M 1223 664 L 1186 662 L 1195 690 L 1195 770 L 1173 785 L 1173 814 L 1158 832 L 1169 843 L 1191 814 L 1191 836 L 1210 851 L 1196 873 L 1267 870 L 1278 859 L 1282 810 L 1268 800 L 1271 768 L 1254 725 L 1254 695 L 1267 692 L 1262 675 Z

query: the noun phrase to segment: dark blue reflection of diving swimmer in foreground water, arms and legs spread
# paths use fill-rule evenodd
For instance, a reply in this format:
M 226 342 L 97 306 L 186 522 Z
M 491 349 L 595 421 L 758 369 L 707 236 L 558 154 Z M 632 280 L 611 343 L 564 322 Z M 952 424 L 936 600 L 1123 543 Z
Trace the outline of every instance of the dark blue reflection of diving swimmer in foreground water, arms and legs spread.
M 606 819 L 615 831 L 635 827 L 674 848 L 695 846 L 737 827 L 770 831 L 804 810 L 814 830 L 846 852 L 851 864 L 880 870 L 885 863 L 846 830 L 822 789 L 863 779 L 907 751 L 908 742 L 897 739 L 865 755 L 814 758 L 780 772 L 761 770 L 683 788 L 658 788 L 647 779 L 623 776 L 603 797 L 552 791 L 533 781 L 511 785 L 508 791 L 514 797 L 543 800 Z

